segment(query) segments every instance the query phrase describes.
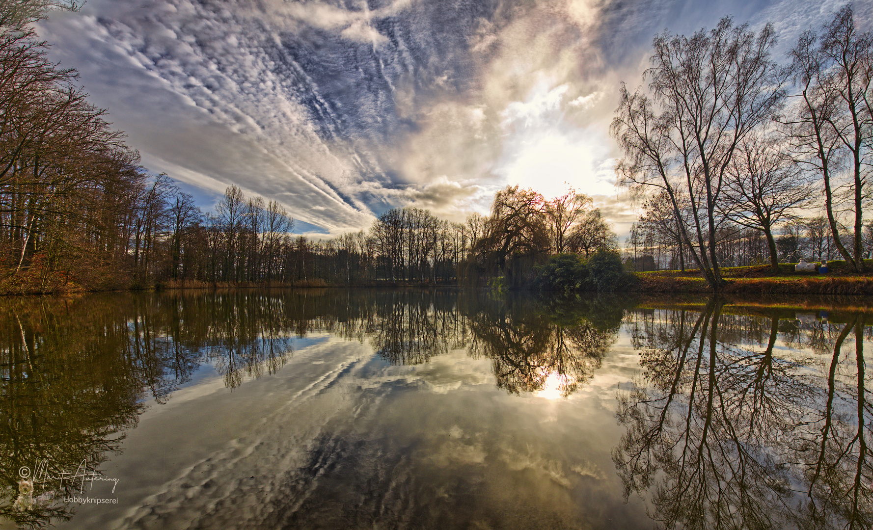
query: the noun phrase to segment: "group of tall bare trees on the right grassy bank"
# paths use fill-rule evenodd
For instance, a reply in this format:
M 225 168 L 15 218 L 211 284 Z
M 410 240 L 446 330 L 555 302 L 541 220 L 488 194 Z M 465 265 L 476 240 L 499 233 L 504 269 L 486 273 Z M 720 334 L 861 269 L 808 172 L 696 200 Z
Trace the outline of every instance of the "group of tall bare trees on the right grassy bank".
M 619 181 L 643 199 L 626 262 L 637 270 L 844 259 L 864 272 L 873 149 L 873 36 L 850 4 L 788 53 L 723 18 L 656 36 L 648 86 L 622 86 L 612 133 Z M 865 234 L 865 230 L 868 232 Z

